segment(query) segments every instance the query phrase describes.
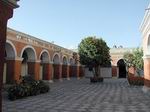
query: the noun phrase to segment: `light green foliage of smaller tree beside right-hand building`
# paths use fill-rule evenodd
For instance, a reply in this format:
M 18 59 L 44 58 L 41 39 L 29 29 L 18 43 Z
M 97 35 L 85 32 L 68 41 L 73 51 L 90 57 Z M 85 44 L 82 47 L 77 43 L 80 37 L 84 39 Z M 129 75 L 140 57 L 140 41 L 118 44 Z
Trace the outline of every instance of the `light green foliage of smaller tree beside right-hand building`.
M 136 69 L 143 70 L 143 50 L 140 48 L 137 48 L 133 53 L 125 53 L 124 60 L 126 62 L 126 65 L 128 67 L 136 67 Z

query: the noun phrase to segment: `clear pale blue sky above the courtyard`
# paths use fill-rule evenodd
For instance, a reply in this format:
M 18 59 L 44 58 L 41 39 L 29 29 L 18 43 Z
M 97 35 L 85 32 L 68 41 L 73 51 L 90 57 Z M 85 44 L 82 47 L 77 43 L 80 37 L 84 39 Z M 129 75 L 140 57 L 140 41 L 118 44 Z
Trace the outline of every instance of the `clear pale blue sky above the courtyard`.
M 140 24 L 150 0 L 20 0 L 8 27 L 76 49 L 88 36 L 107 45 L 139 47 Z

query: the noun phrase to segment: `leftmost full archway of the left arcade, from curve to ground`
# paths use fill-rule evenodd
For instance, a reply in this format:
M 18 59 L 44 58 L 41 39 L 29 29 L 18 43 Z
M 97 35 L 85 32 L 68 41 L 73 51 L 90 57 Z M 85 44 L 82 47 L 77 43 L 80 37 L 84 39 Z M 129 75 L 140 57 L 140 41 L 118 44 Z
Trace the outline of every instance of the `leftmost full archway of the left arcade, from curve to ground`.
M 16 57 L 15 46 L 7 41 L 5 45 L 5 63 L 3 73 L 3 83 L 12 83 L 14 79 L 14 62 Z

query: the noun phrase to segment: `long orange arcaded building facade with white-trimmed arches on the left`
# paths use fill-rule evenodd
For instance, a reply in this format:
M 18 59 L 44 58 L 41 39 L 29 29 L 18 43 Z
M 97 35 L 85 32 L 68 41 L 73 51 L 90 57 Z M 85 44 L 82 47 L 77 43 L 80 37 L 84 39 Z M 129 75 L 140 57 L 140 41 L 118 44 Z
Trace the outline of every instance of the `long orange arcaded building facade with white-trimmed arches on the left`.
M 82 66 L 75 62 L 73 51 L 7 28 L 3 83 L 31 75 L 36 80 L 83 76 Z

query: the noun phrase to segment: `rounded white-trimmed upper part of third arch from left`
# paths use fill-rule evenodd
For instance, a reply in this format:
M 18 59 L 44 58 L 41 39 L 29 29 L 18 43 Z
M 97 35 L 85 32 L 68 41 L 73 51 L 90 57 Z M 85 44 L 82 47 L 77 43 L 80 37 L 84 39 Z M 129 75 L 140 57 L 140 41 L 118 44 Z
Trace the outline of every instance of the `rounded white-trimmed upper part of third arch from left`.
M 42 50 L 40 53 L 39 59 L 42 60 L 43 62 L 49 62 L 50 61 L 50 55 L 47 50 Z

